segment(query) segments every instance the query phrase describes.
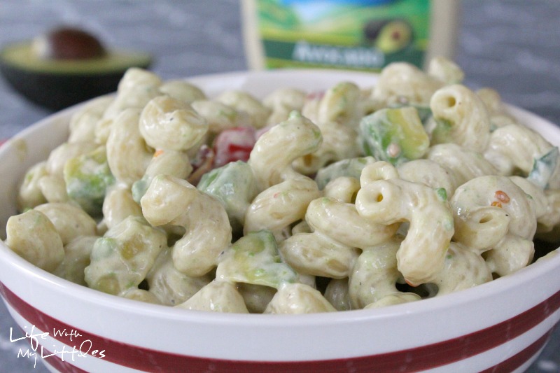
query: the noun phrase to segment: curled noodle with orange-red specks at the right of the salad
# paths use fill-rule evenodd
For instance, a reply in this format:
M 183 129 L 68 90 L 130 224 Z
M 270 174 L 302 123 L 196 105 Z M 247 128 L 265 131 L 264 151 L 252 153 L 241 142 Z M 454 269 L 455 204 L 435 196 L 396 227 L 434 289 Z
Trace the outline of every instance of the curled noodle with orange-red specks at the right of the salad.
M 450 203 L 454 240 L 485 253 L 492 272 L 505 276 L 531 262 L 531 240 L 537 229 L 535 202 L 510 178 L 474 178 L 456 190 Z

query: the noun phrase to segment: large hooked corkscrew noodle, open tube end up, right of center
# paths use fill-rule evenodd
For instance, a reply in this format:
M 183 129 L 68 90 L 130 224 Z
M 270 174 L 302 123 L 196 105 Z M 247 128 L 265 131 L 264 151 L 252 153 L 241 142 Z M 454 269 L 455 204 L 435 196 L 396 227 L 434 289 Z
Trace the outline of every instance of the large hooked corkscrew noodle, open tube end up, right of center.
M 388 164 L 370 164 L 362 172 L 356 209 L 375 223 L 409 222 L 407 237 L 397 252 L 398 269 L 407 283 L 429 282 L 442 268 L 454 233 L 447 195 L 400 178 L 372 177 L 380 167 Z

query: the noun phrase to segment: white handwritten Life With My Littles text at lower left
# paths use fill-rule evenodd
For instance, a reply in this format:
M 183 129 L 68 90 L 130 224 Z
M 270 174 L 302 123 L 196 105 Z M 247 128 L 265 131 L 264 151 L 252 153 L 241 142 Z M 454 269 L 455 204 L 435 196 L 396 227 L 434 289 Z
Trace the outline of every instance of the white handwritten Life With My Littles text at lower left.
M 29 347 L 18 349 L 18 358 L 34 359 L 34 367 L 36 367 L 38 359 L 59 358 L 62 361 L 76 361 L 76 359 L 85 358 L 88 355 L 97 358 L 105 357 L 105 350 L 95 349 L 92 341 L 77 330 L 53 328 L 50 332 L 41 332 L 35 328 L 35 325 L 31 325 L 30 328 L 24 326 L 23 332 L 25 335 L 18 337 L 19 333 L 10 328 L 10 342 L 27 339 Z M 52 348 L 49 349 L 50 338 L 63 338 L 66 342 L 62 348 L 52 344 Z M 69 346 L 66 346 L 67 342 L 70 342 Z M 72 343 L 75 344 L 71 345 Z

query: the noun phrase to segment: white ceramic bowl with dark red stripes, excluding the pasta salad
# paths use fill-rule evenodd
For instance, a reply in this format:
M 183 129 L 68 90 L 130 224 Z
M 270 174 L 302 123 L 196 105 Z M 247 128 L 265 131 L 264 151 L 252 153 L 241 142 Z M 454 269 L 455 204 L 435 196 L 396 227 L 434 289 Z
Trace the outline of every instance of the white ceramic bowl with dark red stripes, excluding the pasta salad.
M 312 91 L 341 80 L 368 86 L 375 78 L 273 71 L 192 81 L 209 95 L 240 88 L 262 96 L 281 86 Z M 0 148 L 0 227 L 16 212 L 25 170 L 64 141 L 75 110 L 38 122 Z M 511 111 L 560 144 L 559 128 L 526 111 Z M 83 288 L 0 244 L 0 291 L 15 321 L 31 335 L 29 352 L 63 372 L 522 372 L 560 319 L 559 273 L 560 255 L 554 255 L 476 288 L 382 309 L 215 314 Z

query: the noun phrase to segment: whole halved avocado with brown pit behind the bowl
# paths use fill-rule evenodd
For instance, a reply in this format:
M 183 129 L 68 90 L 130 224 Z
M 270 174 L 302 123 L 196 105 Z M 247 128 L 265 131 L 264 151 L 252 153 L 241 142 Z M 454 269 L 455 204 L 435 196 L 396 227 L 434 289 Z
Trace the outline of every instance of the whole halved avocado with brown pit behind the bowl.
M 55 111 L 115 92 L 127 69 L 148 68 L 151 62 L 145 52 L 106 49 L 76 27 L 58 27 L 0 51 L 6 81 L 30 101 Z

